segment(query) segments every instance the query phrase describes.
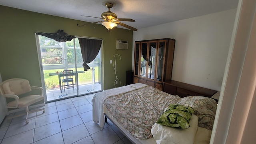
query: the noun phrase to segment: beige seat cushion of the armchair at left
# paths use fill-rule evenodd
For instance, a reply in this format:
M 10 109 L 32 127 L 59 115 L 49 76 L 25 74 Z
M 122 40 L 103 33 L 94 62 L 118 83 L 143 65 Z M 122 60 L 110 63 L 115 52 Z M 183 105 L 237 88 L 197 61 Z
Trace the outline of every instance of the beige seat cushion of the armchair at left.
M 25 96 L 23 98 L 19 99 L 18 108 L 24 108 L 26 106 L 30 106 L 31 104 L 34 104 L 35 102 L 38 102 L 40 100 L 43 100 L 44 96 L 40 95 L 29 95 Z M 7 106 L 15 106 L 16 101 L 9 102 Z

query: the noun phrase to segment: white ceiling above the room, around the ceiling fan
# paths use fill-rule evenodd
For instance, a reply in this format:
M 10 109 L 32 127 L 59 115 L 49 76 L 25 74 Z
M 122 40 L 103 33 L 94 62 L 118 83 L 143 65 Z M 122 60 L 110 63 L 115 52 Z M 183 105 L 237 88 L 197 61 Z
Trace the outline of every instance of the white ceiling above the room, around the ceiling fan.
M 106 2 L 113 2 L 114 6 L 110 11 L 117 18 L 135 20 L 136 22 L 122 23 L 137 29 L 230 10 L 238 5 L 238 0 L 0 0 L 0 5 L 97 22 L 101 19 L 81 15 L 101 17 L 102 12 L 108 11 Z

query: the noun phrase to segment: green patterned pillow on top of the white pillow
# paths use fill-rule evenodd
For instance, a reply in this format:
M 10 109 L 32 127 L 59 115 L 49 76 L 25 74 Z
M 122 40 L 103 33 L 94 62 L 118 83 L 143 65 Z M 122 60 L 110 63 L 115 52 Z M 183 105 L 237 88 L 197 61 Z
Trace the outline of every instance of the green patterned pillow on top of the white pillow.
M 194 108 L 180 104 L 170 104 L 168 109 L 156 121 L 157 124 L 174 128 L 189 128 L 189 120 L 194 114 Z

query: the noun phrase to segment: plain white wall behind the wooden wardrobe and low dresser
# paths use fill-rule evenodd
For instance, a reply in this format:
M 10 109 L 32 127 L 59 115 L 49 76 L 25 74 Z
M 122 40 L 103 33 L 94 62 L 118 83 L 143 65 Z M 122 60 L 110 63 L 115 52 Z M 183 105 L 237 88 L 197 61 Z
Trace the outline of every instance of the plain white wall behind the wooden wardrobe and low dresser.
M 236 9 L 139 29 L 134 42 L 176 40 L 172 80 L 220 91 Z

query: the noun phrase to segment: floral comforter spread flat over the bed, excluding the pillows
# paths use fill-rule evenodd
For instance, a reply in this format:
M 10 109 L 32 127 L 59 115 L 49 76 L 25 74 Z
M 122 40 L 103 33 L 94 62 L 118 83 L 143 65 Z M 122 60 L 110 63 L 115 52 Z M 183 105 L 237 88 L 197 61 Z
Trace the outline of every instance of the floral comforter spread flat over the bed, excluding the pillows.
M 146 86 L 107 98 L 104 105 L 116 121 L 136 139 L 152 138 L 152 125 L 169 104 L 176 104 L 178 96 Z

